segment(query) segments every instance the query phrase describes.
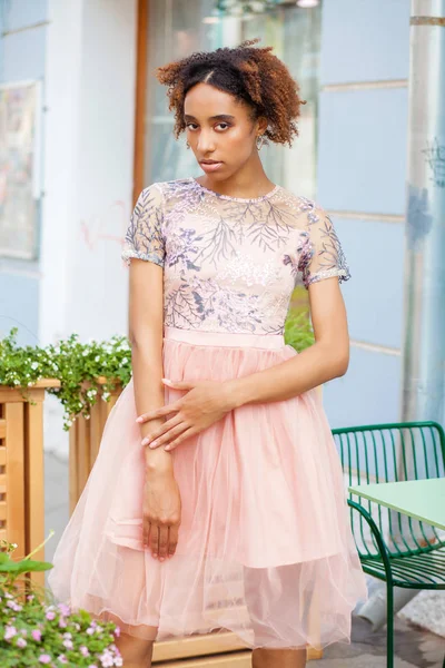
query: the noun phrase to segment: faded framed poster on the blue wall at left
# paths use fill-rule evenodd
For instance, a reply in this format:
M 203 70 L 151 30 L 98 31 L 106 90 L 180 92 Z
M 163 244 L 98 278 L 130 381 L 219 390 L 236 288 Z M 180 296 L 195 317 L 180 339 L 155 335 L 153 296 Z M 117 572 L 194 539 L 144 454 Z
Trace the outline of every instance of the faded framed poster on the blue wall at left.
M 0 86 L 0 257 L 37 257 L 40 81 Z

